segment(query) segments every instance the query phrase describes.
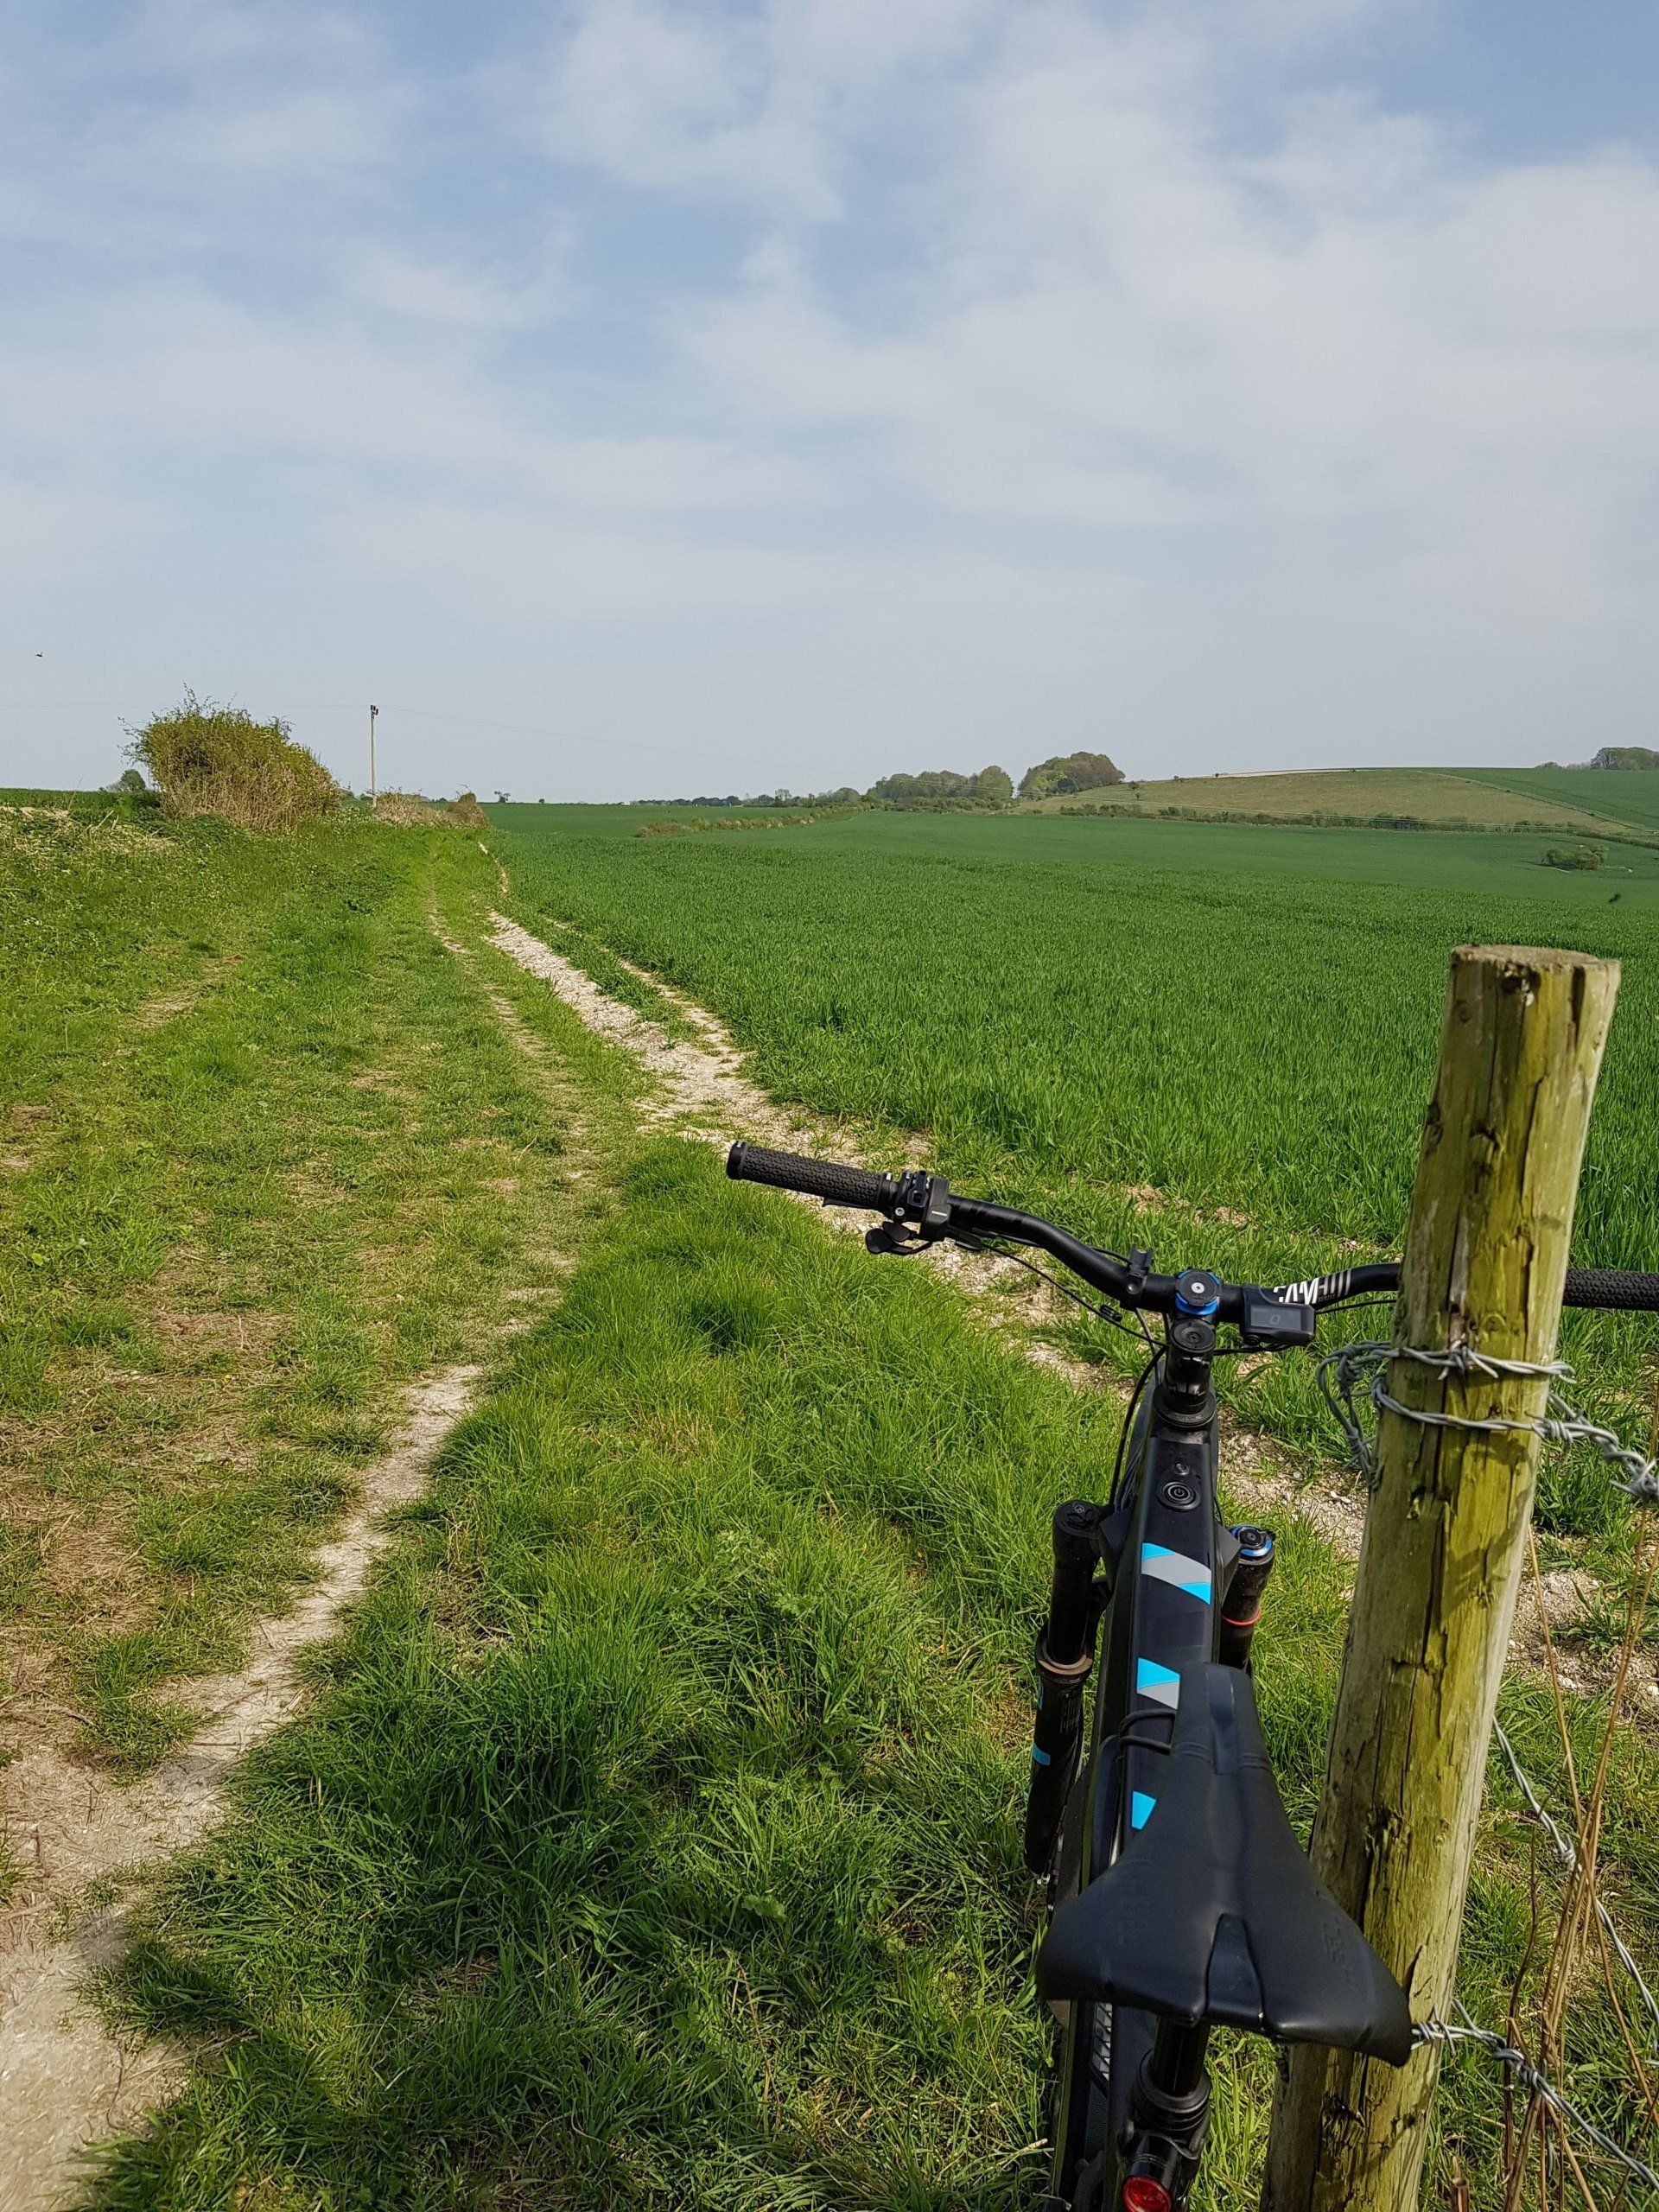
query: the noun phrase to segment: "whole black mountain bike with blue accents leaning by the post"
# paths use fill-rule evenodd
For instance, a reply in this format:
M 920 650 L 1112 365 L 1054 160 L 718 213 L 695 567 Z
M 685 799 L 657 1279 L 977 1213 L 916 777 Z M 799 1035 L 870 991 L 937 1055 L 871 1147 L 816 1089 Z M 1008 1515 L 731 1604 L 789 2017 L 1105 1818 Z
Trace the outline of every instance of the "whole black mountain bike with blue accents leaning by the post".
M 1307 1347 L 1321 1310 L 1387 1296 L 1400 1270 L 1276 1290 L 1206 1267 L 1157 1274 L 1150 1252 L 1102 1252 L 925 1170 L 872 1175 L 734 1144 L 726 1172 L 880 1214 L 872 1252 L 940 1239 L 1044 1252 L 1139 1323 L 1148 1360 L 1110 1493 L 1053 1515 L 1024 1847 L 1044 1885 L 1035 1978 L 1053 2015 L 1042 2212 L 1175 2212 L 1203 2154 L 1212 2028 L 1391 2066 L 1413 2048 L 1405 1991 L 1314 1874 L 1279 1798 L 1250 1672 L 1274 1535 L 1221 1520 L 1214 1396 L 1217 1358 Z M 1659 1276 L 1568 1267 L 1564 1303 L 1659 1312 Z M 1234 1340 L 1221 1345 L 1221 1329 Z

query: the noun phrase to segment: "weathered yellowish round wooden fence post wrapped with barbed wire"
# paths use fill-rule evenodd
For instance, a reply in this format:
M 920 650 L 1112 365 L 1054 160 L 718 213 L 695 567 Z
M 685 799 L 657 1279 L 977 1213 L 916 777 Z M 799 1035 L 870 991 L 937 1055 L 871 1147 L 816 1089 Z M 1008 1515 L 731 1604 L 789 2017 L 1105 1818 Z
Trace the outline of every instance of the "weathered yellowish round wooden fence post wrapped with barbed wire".
M 1584 1133 L 1619 989 L 1610 960 L 1520 947 L 1451 958 L 1394 1343 L 1551 1360 Z M 1394 1360 L 1402 1405 L 1537 1416 L 1546 1385 Z M 1398 1973 L 1444 2015 L 1537 1438 L 1383 1413 L 1314 1865 Z M 1265 2212 L 1416 2212 L 1438 2051 L 1398 2073 L 1301 2046 L 1274 2106 Z

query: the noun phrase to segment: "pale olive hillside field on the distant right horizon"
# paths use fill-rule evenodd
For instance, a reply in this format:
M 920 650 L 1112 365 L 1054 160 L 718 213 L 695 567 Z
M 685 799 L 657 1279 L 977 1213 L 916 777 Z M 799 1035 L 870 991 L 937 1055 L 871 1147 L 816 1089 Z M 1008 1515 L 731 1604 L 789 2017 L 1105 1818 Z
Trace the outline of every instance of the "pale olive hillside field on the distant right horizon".
M 1597 779 L 1590 776 L 1590 783 Z M 1513 830 L 1548 823 L 1559 830 L 1593 830 L 1593 796 L 1533 785 L 1509 770 L 1482 776 L 1447 768 L 1316 768 L 1281 776 L 1170 776 L 1164 781 L 1113 783 L 1071 799 L 1042 799 L 1031 812 L 1060 814 L 1064 807 L 1115 805 L 1141 814 L 1188 810 L 1199 814 L 1389 814 L 1422 823 L 1460 823 L 1475 830 Z

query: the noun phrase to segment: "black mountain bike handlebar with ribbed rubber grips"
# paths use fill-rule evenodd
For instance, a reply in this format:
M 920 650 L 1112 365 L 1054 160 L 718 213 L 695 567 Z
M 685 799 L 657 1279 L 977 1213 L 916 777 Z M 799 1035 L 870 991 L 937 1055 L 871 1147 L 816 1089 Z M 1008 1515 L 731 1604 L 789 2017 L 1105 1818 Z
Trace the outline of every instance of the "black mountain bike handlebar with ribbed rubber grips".
M 1068 1230 L 1022 1214 L 1011 1206 L 989 1206 L 960 1199 L 942 1177 L 911 1170 L 909 1175 L 872 1175 L 832 1159 L 805 1159 L 799 1152 L 772 1152 L 761 1144 L 734 1144 L 726 1172 L 741 1183 L 770 1183 L 774 1190 L 799 1190 L 825 1206 L 852 1206 L 885 1214 L 887 1221 L 914 1223 L 925 1241 L 938 1237 L 1002 1237 L 1009 1243 L 1033 1245 L 1071 1267 L 1093 1290 L 1117 1305 L 1159 1314 L 1199 1314 L 1212 1321 L 1250 1323 L 1265 1305 L 1327 1307 L 1347 1298 L 1387 1294 L 1400 1285 L 1398 1261 L 1374 1261 L 1343 1267 L 1336 1274 L 1312 1276 L 1305 1283 L 1281 1283 L 1261 1290 L 1254 1283 L 1221 1283 L 1199 1270 L 1183 1274 L 1130 1274 L 1113 1252 L 1082 1243 Z M 1210 1296 L 1214 1303 L 1210 1305 Z M 1659 1314 L 1659 1274 L 1635 1274 L 1628 1267 L 1568 1267 L 1564 1305 L 1595 1312 Z

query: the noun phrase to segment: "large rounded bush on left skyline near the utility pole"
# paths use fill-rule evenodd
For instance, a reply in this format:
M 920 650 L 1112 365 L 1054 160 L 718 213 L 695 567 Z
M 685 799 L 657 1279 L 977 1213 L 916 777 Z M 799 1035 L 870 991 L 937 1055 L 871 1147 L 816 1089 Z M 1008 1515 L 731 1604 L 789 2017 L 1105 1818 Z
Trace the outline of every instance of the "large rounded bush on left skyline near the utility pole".
M 345 799 L 285 721 L 254 721 L 248 708 L 195 692 L 135 732 L 133 759 L 148 768 L 166 814 L 221 814 L 241 830 L 299 830 Z

